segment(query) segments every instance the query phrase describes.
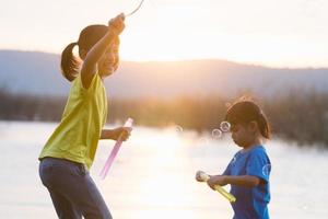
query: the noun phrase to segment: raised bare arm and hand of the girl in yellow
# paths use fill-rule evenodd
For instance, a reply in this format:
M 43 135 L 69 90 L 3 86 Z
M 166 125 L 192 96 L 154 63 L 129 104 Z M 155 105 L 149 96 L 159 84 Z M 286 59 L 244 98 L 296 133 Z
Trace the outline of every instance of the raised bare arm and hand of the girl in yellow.
M 86 54 L 81 69 L 82 83 L 85 89 L 90 87 L 93 76 L 96 72 L 97 61 L 105 54 L 114 39 L 124 31 L 124 21 L 125 15 L 122 13 L 117 15 L 115 19 L 112 19 L 108 23 L 108 32 L 106 35 Z

